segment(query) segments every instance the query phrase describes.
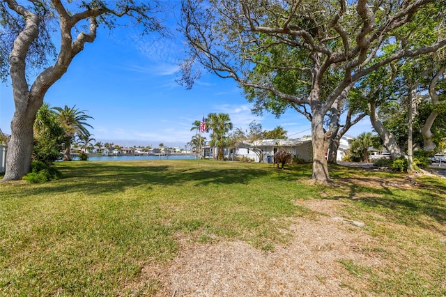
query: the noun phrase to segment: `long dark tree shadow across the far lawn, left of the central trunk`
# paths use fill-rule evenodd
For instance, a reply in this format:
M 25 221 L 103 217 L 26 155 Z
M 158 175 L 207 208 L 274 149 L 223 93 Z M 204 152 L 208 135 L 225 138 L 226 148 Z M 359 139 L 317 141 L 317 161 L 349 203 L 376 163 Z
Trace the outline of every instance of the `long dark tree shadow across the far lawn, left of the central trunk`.
M 120 165 L 118 162 L 114 165 L 104 165 L 99 162 L 75 166 L 59 165 L 58 168 L 63 173 L 61 180 L 30 189 L 30 194 L 83 192 L 89 195 L 100 195 L 107 192 L 122 192 L 135 187 L 142 187 L 149 191 L 155 185 L 171 187 L 186 183 L 192 186 L 247 184 L 253 178 L 270 174 L 268 170 L 249 167 L 194 168 L 138 163 Z

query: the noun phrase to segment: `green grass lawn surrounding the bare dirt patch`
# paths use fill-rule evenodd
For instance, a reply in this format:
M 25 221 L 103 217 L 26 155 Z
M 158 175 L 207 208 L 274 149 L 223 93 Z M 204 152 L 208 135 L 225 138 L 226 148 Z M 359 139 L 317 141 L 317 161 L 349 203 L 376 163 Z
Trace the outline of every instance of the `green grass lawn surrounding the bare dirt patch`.
M 0 295 L 125 296 L 147 264 L 176 257 L 178 238 L 240 240 L 272 252 L 293 220 L 313 219 L 298 199 L 344 201 L 367 222 L 365 247 L 390 261 L 379 270 L 340 261 L 364 295 L 446 296 L 446 180 L 330 168 L 334 187 L 305 182 L 310 165 L 201 161 L 60 162 L 63 178 L 0 183 Z M 383 184 L 370 183 L 380 178 Z M 293 220 L 291 220 L 293 219 Z M 140 288 L 153 294 L 155 278 Z M 346 283 L 355 288 L 355 283 Z M 141 293 L 141 294 L 142 294 Z

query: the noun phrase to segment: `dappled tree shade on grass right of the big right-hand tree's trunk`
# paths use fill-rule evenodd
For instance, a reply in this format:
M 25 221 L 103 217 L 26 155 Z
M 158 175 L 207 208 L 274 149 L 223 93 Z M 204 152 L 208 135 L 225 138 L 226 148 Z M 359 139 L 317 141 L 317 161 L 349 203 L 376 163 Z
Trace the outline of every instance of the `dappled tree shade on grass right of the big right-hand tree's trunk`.
M 445 229 L 429 223 L 426 216 L 446 223 L 446 187 L 435 180 L 413 185 L 403 178 L 339 178 L 346 195 L 327 199 L 349 199 L 360 210 L 384 214 L 389 220 L 408 226 L 417 225 L 446 234 Z

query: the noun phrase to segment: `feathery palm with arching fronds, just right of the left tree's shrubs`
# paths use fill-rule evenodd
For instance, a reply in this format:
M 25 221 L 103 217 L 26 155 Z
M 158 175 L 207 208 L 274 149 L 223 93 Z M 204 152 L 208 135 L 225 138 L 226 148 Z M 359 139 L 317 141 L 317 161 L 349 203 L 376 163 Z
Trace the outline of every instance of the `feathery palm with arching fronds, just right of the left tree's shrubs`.
M 93 128 L 92 125 L 86 123 L 87 119 L 93 119 L 85 113 L 84 110 L 76 109 L 75 106 L 68 107 L 65 105 L 64 108 L 53 107 L 58 112 L 58 119 L 63 128 L 66 130 L 67 137 L 70 137 L 70 142 L 65 146 L 65 152 L 63 153 L 63 160 L 71 160 L 70 157 L 70 146 L 75 138 L 75 135 L 87 135 L 89 131 L 86 126 Z

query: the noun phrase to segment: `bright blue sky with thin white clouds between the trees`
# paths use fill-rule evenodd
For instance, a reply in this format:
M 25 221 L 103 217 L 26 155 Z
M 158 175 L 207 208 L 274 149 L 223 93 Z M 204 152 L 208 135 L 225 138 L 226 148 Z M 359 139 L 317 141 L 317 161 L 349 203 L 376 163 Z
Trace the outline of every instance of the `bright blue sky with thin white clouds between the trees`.
M 68 72 L 49 89 L 45 102 L 85 110 L 94 118 L 89 123 L 96 141 L 121 146 L 163 143 L 184 148 L 194 135 L 192 123 L 210 112 L 229 114 L 233 126 L 243 130 L 256 120 L 263 130 L 281 125 L 290 138 L 311 134 L 309 121 L 293 110 L 279 119 L 252 114 L 231 79 L 203 73 L 192 90 L 177 84 L 184 40 L 173 28 L 172 33 L 174 38 L 160 38 L 140 36 L 136 28 L 112 32 L 101 28 L 95 42 L 86 44 Z M 0 128 L 10 133 L 14 113 L 10 82 L 1 84 L 0 98 Z M 370 130 L 369 119 L 364 119 L 348 135 Z

